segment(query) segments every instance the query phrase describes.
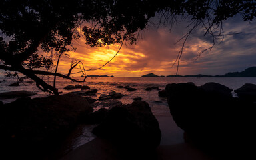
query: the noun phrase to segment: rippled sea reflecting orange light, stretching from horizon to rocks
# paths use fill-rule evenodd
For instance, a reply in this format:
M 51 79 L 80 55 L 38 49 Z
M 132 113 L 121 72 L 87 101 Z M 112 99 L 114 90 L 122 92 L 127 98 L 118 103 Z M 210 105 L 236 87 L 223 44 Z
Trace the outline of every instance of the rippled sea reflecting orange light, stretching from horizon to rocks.
M 52 84 L 53 79 L 44 77 L 45 81 L 49 84 Z M 83 79 L 83 77 L 77 77 L 77 79 Z M 1 79 L 3 80 L 3 79 Z M 36 92 L 37 95 L 33 97 L 45 97 L 48 93 L 43 93 L 35 86 L 33 81 L 24 81 L 18 87 L 10 87 L 9 84 L 13 83 L 12 79 L 7 79 L 5 82 L 0 83 L 0 93 L 6 91 L 18 91 L 18 90 L 27 90 Z M 63 87 L 67 85 L 89 85 L 91 89 L 98 89 L 97 97 L 101 94 L 108 94 L 111 91 L 116 91 L 119 93 L 123 93 L 127 96 L 119 99 L 123 104 L 128 104 L 133 102 L 133 98 L 142 97 L 144 101 L 147 101 L 151 106 L 151 109 L 155 115 L 169 114 L 169 110 L 167 109 L 167 99 L 158 97 L 158 91 L 145 91 L 147 87 L 159 87 L 159 89 L 165 89 L 165 85 L 168 83 L 185 83 L 185 82 L 193 82 L 195 85 L 203 85 L 207 82 L 216 82 L 222 85 L 229 87 L 230 89 L 238 89 L 245 83 L 253 83 L 256 84 L 256 78 L 226 78 L 226 77 L 88 77 L 85 83 L 73 83 L 67 79 L 59 78 L 57 79 L 57 88 L 59 91 L 63 91 L 63 93 L 67 93 L 70 91 L 64 90 Z M 123 88 L 117 88 L 118 85 L 129 85 L 131 87 L 136 88 L 136 91 L 127 91 Z M 80 89 L 75 89 L 72 91 L 79 91 Z M 235 93 L 233 93 L 235 96 Z M 32 98 L 33 98 L 32 97 Z M 97 99 L 97 97 L 93 97 Z M 15 99 L 1 99 L 3 103 L 9 103 L 14 101 Z

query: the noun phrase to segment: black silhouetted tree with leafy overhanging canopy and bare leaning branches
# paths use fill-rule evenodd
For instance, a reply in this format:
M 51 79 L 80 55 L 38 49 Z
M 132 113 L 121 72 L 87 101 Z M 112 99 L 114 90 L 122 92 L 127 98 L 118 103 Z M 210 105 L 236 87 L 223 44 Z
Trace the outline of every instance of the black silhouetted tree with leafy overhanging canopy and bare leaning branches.
M 244 21 L 251 21 L 255 8 L 255 1 L 241 0 L 1 0 L 0 69 L 22 73 L 33 79 L 39 89 L 57 95 L 58 89 L 38 75 L 77 81 L 70 77 L 74 67 L 71 66 L 67 75 L 57 73 L 57 68 L 54 73 L 49 72 L 47 69 L 53 67 L 52 59 L 39 56 L 39 51 L 53 52 L 61 57 L 63 53 L 75 51 L 73 40 L 79 39 L 81 34 L 85 44 L 91 47 L 123 41 L 133 44 L 137 41 L 137 33 L 147 27 L 155 13 L 160 15 L 160 25 L 172 26 L 178 17 L 187 17 L 192 21 L 192 31 L 199 26 L 205 27 L 205 34 L 214 39 L 224 35 L 222 21 L 236 14 L 242 15 Z M 83 25 L 85 23 L 92 25 Z M 82 32 L 78 28 L 82 28 Z M 216 29 L 219 29 L 217 35 Z M 189 35 L 183 37 L 185 41 Z M 181 55 L 182 49 L 177 61 Z

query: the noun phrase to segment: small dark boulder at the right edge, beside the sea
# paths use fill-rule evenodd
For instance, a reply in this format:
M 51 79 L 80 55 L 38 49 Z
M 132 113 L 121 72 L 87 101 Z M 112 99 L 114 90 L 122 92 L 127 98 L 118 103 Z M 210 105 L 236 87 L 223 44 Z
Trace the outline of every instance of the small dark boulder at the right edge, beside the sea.
M 237 96 L 241 99 L 249 101 L 256 101 L 256 85 L 251 83 L 245 83 L 242 87 L 235 90 Z

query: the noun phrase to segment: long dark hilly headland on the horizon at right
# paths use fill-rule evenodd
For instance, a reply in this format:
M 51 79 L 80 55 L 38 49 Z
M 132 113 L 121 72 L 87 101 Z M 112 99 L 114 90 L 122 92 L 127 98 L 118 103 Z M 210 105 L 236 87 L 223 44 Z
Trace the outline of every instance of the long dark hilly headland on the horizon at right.
M 165 77 L 163 75 L 158 76 L 154 73 L 142 75 L 141 77 Z M 256 77 L 256 67 L 249 67 L 245 71 L 241 72 L 229 72 L 224 75 L 167 75 L 166 77 Z

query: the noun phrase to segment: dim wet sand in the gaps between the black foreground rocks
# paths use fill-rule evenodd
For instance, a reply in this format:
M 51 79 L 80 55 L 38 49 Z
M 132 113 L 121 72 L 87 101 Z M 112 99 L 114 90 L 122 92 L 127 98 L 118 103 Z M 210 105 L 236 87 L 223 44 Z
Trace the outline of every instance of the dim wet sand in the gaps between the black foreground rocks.
M 205 155 L 199 149 L 184 143 L 183 131 L 177 127 L 173 121 L 171 115 L 163 116 L 157 115 L 157 120 L 159 121 L 162 138 L 159 147 L 157 147 L 157 157 L 154 159 L 165 160 L 209 160 L 211 157 Z M 117 149 L 111 143 L 104 139 L 95 138 L 85 145 L 77 147 L 67 155 L 61 158 L 61 160 L 71 160 L 71 159 L 125 159 L 125 156 L 120 156 L 117 153 Z M 134 157 L 137 159 L 137 157 Z

